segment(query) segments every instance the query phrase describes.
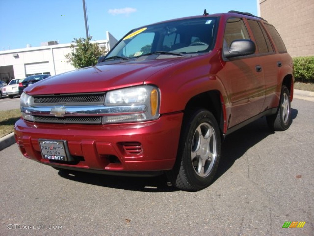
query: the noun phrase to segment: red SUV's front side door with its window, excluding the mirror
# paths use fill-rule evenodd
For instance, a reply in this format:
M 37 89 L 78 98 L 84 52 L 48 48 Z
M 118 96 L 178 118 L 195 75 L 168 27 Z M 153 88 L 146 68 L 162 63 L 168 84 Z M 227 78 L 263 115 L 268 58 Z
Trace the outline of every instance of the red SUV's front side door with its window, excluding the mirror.
M 251 39 L 242 18 L 226 22 L 224 47 L 234 40 Z M 230 91 L 231 116 L 229 128 L 257 115 L 265 99 L 263 69 L 256 55 L 225 59 L 225 76 Z

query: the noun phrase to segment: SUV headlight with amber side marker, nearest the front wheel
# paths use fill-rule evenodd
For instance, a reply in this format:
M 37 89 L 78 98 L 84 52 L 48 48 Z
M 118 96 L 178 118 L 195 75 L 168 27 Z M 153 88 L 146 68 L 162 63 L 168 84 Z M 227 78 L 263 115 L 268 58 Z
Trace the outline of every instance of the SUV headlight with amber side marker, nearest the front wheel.
M 113 114 L 103 117 L 103 123 L 155 120 L 159 117 L 159 90 L 150 85 L 124 88 L 106 94 L 105 106 Z

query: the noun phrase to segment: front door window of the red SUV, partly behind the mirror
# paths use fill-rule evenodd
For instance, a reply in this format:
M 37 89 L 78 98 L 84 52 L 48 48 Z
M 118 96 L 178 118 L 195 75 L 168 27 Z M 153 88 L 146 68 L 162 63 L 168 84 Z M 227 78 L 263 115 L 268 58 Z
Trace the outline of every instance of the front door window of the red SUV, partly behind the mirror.
M 246 26 L 241 18 L 230 18 L 226 23 L 224 47 L 230 47 L 231 42 L 240 39 L 250 39 Z

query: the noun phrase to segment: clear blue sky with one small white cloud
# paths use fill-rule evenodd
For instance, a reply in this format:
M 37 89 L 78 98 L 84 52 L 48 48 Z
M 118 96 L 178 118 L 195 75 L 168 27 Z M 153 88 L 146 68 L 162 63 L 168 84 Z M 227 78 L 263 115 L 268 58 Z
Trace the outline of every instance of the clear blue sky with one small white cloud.
M 116 39 L 142 25 L 179 17 L 237 10 L 257 15 L 256 0 L 85 0 L 89 35 Z M 0 0 L 0 51 L 86 37 L 82 0 Z

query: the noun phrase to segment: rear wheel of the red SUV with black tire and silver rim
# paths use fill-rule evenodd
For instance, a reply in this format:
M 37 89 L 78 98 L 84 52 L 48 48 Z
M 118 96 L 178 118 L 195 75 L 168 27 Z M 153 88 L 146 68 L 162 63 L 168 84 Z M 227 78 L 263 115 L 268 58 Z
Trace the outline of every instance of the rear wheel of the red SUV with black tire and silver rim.
M 282 86 L 279 105 L 276 114 L 266 116 L 267 124 L 272 131 L 287 130 L 291 123 L 290 93 L 286 86 Z

